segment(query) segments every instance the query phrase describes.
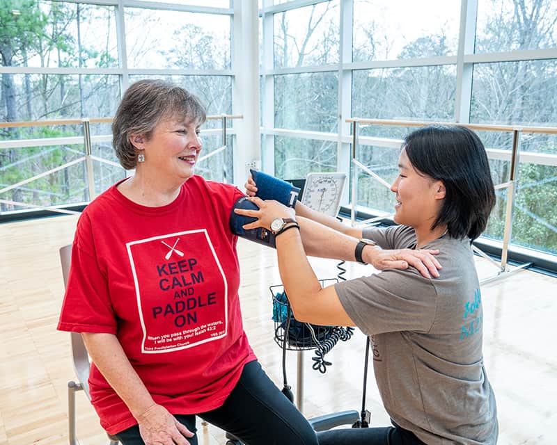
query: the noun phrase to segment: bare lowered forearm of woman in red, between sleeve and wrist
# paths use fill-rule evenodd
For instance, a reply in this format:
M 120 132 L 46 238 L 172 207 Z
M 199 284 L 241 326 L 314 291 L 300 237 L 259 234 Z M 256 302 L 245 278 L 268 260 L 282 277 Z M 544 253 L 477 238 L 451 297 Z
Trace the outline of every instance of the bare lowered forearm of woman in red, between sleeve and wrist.
M 155 401 L 130 364 L 116 335 L 82 332 L 81 336 L 95 366 L 132 415 L 139 419 L 141 414 L 155 405 Z

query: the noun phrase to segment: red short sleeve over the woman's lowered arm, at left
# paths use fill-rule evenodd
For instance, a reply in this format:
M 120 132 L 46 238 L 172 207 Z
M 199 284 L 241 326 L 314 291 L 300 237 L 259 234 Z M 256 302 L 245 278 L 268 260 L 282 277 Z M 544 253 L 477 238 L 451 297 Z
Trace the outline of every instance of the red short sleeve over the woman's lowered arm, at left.
M 82 215 L 72 246 L 72 261 L 58 330 L 116 334 L 107 277 L 95 257 L 91 222 Z

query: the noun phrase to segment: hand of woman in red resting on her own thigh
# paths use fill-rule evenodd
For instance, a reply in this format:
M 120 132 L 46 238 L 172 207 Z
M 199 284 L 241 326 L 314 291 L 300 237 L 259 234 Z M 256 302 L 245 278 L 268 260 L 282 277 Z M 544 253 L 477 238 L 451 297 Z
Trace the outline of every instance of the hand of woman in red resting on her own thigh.
M 139 433 L 145 445 L 189 445 L 186 437 L 194 433 L 182 425 L 162 405 L 152 405 L 137 416 Z

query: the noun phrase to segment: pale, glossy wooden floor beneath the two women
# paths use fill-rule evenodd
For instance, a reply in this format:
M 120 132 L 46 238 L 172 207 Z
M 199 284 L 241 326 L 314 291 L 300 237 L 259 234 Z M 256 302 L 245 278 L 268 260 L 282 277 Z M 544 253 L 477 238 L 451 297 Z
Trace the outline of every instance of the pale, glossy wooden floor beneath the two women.
M 0 445 L 67 444 L 67 383 L 74 378 L 70 336 L 57 332 L 63 297 L 58 248 L 72 241 L 77 218 L 57 216 L 0 225 Z M 274 343 L 269 286 L 280 284 L 274 251 L 240 240 L 240 297 L 251 345 L 282 387 L 281 349 Z M 493 266 L 478 259 L 480 277 Z M 320 278 L 336 277 L 336 262 L 313 260 Z M 356 264 L 347 276 L 369 273 Z M 499 444 L 556 444 L 557 280 L 521 271 L 483 286 L 485 364 L 499 408 Z M 304 353 L 304 414 L 359 410 L 365 338 L 356 334 L 330 353 L 321 375 Z M 297 353 L 288 355 L 288 376 L 297 389 Z M 372 424 L 386 425 L 370 372 L 367 407 Z M 97 416 L 77 394 L 79 442 L 107 443 Z M 223 432 L 201 426 L 200 445 L 225 444 Z

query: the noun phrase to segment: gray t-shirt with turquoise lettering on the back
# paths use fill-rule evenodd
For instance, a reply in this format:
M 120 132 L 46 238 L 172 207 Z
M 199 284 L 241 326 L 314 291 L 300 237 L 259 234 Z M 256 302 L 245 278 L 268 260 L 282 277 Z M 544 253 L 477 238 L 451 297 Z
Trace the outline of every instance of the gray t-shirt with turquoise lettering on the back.
M 414 247 L 414 229 L 369 227 L 384 249 Z M 441 236 L 435 279 L 415 268 L 335 284 L 354 323 L 372 339 L 386 411 L 429 445 L 495 444 L 496 404 L 483 366 L 483 309 L 468 240 Z

